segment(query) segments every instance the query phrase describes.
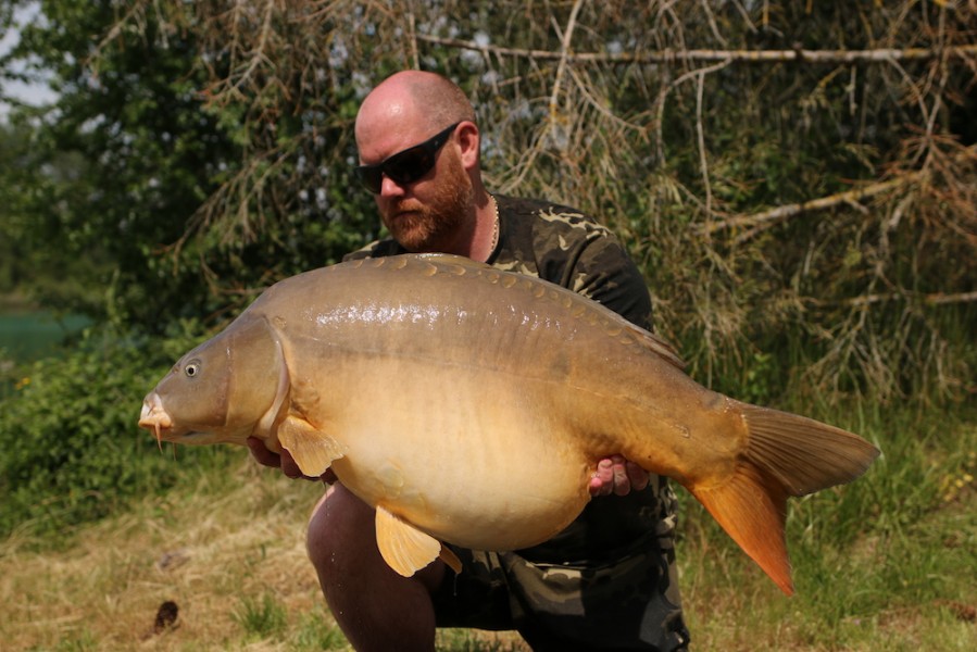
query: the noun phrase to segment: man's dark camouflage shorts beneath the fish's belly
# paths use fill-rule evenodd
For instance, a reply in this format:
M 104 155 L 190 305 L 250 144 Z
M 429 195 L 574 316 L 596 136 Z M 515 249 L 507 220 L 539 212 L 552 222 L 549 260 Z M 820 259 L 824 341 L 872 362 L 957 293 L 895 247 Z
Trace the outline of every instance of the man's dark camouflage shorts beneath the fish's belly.
M 641 548 L 639 550 L 639 548 Z M 666 553 L 643 547 L 605 564 L 537 564 L 453 548 L 462 561 L 435 594 L 439 627 L 516 629 L 534 650 L 685 650 L 689 634 Z M 671 554 L 671 550 L 668 550 Z

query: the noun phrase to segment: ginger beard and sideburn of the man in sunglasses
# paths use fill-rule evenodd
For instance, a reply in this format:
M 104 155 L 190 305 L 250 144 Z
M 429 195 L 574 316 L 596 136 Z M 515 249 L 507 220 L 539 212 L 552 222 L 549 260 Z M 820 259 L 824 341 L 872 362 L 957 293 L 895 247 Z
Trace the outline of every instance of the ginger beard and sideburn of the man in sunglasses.
M 449 156 L 429 201 L 422 203 L 413 198 L 402 199 L 381 209 L 384 225 L 400 246 L 412 252 L 443 251 L 464 225 L 472 211 L 475 193 L 472 179 L 465 173 L 454 150 L 446 149 L 440 155 Z

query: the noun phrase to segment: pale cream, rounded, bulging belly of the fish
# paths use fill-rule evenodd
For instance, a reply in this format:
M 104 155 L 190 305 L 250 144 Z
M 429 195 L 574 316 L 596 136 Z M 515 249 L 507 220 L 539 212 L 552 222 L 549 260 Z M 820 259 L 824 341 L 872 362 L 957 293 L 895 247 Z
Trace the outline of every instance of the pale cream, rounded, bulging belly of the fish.
M 331 419 L 345 451 L 333 469 L 367 504 L 451 543 L 515 550 L 562 530 L 589 500 L 592 463 L 546 388 L 416 361 L 373 361 L 353 377 Z

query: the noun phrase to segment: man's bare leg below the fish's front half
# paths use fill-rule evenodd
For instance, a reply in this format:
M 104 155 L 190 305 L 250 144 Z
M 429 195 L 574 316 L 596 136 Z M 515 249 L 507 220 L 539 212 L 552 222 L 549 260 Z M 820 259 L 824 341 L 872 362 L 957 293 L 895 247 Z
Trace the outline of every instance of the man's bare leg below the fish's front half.
M 375 512 L 340 482 L 309 521 L 309 559 L 342 632 L 361 652 L 435 647 L 431 592 L 444 576 L 435 561 L 413 577 L 394 573 L 376 546 Z

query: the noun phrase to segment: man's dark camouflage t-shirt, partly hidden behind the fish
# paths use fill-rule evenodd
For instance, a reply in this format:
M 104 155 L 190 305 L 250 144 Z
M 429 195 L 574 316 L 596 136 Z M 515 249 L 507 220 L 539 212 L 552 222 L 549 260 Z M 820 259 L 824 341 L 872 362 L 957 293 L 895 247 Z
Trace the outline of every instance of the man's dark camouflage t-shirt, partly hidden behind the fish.
M 496 196 L 496 201 L 499 241 L 489 264 L 543 278 L 599 301 L 634 324 L 650 326 L 644 279 L 608 228 L 567 206 L 503 196 Z M 387 238 L 345 260 L 402 253 L 408 252 Z M 643 491 L 591 500 L 569 527 L 519 554 L 536 563 L 599 563 L 641 547 L 647 537 L 671 548 L 674 514 L 675 496 L 664 478 L 655 476 Z

